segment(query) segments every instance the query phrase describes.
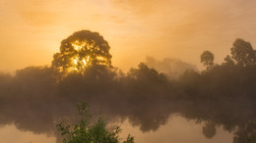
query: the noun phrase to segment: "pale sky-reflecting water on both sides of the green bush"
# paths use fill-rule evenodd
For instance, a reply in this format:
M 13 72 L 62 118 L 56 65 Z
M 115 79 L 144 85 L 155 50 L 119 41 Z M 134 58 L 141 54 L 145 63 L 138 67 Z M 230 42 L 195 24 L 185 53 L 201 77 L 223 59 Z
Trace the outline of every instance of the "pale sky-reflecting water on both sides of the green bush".
M 111 123 L 110 123 L 111 124 Z M 109 125 L 110 125 L 109 124 Z M 114 122 L 113 124 L 116 124 Z M 138 143 L 231 143 L 232 133 L 224 131 L 223 127 L 217 127 L 217 133 L 212 139 L 202 134 L 203 123 L 196 123 L 179 116 L 168 119 L 165 125 L 161 125 L 157 131 L 142 132 L 140 128 L 132 126 L 128 120 L 119 123 L 123 128 L 121 137 L 128 133 L 135 136 Z M 15 137 L 12 137 L 15 136 Z M 45 133 L 34 134 L 32 131 L 22 131 L 14 124 L 4 125 L 0 128 L 0 142 L 8 143 L 55 143 L 56 138 Z

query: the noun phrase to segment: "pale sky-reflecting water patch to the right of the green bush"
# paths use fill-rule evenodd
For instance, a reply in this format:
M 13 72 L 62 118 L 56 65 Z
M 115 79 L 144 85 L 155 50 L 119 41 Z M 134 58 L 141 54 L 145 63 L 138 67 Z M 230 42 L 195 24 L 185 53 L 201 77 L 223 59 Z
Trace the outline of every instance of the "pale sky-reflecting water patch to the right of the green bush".
M 202 134 L 203 123 L 187 120 L 180 116 L 168 119 L 165 125 L 161 125 L 157 131 L 142 132 L 139 127 L 133 127 L 126 120 L 122 127 L 123 134 L 132 133 L 135 141 L 139 143 L 231 143 L 232 133 L 224 131 L 223 127 L 217 127 L 217 133 L 212 139 Z

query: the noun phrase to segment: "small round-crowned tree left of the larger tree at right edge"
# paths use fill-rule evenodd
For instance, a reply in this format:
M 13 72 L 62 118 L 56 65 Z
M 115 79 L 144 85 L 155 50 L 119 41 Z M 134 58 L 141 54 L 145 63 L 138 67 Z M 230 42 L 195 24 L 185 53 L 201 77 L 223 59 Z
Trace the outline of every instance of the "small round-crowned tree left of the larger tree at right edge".
M 207 68 L 211 68 L 214 66 L 214 60 L 215 56 L 212 52 L 210 51 L 204 51 L 203 54 L 201 55 L 201 63 Z

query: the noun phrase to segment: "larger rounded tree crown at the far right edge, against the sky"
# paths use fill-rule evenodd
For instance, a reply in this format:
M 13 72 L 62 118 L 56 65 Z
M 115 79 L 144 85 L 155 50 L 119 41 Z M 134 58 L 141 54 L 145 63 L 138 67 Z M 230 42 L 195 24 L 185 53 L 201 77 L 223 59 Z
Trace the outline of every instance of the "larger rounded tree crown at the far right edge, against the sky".
M 233 43 L 231 57 L 237 65 L 243 67 L 252 66 L 256 63 L 256 52 L 253 50 L 251 43 L 239 38 Z

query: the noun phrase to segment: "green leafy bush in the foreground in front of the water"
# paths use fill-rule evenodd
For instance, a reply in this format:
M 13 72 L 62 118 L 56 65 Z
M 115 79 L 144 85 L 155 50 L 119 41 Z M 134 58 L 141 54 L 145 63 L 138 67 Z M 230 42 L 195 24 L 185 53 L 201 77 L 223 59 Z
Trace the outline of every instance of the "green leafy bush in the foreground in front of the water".
M 91 122 L 92 115 L 86 103 L 78 104 L 77 110 L 81 119 L 74 125 L 73 129 L 64 121 L 56 125 L 63 136 L 63 143 L 119 143 L 121 141 L 119 137 L 120 126 L 114 126 L 109 131 L 106 129 L 106 120 L 102 118 L 98 118 L 93 124 Z M 134 137 L 129 134 L 123 143 L 134 143 Z

